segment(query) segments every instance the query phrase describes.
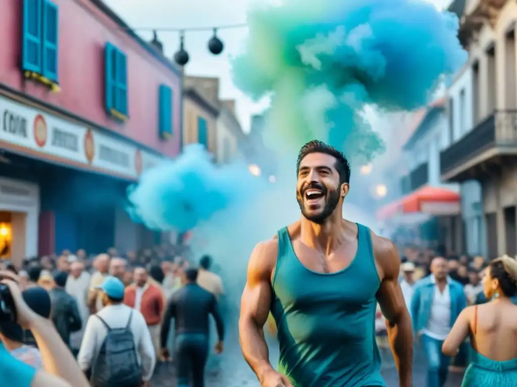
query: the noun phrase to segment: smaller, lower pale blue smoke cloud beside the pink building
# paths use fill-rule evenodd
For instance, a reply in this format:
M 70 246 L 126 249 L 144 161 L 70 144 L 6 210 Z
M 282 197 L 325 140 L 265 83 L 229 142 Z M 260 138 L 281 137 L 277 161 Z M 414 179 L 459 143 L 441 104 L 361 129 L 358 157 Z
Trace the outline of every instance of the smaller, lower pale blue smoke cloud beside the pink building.
M 244 166 L 217 166 L 203 146 L 191 144 L 178 158 L 144 171 L 128 189 L 128 211 L 151 230 L 186 232 L 246 200 L 261 184 Z

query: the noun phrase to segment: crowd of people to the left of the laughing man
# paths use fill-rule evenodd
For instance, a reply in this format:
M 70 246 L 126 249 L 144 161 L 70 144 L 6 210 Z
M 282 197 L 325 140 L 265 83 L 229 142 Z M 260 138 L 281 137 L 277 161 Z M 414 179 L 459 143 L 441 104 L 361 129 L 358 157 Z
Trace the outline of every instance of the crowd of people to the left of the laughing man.
M 150 385 L 157 362 L 172 358 L 180 386 L 190 380 L 202 386 L 208 344 L 213 342 L 217 353 L 223 350 L 221 277 L 210 270 L 209 256 L 194 264 L 188 247 L 124 255 L 112 248 L 96 256 L 63 251 L 27 259 L 19 268 L 2 265 L 3 272 L 16 275 L 22 291 L 48 292 L 52 311 L 41 314 L 53 321 L 95 387 Z M 14 358 L 44 368 L 31 330 L 2 322 L 0 339 Z

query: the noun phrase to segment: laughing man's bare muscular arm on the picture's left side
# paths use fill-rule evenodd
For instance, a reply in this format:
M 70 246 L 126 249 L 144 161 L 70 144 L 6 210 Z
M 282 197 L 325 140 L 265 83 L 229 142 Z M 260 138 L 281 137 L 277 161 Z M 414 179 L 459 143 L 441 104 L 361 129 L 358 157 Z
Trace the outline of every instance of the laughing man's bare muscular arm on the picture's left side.
M 271 304 L 271 272 L 278 251 L 276 240 L 259 243 L 251 253 L 248 278 L 240 304 L 239 340 L 244 358 L 262 382 L 273 371 L 264 338 Z

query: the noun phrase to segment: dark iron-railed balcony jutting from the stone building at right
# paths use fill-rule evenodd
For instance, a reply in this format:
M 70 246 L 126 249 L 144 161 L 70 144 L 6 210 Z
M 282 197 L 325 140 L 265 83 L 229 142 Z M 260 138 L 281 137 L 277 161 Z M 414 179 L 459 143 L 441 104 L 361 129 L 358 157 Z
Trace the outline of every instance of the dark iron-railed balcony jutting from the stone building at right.
M 458 142 L 440 152 L 444 181 L 472 179 L 472 169 L 498 156 L 517 155 L 517 111 L 499 110 L 481 121 Z

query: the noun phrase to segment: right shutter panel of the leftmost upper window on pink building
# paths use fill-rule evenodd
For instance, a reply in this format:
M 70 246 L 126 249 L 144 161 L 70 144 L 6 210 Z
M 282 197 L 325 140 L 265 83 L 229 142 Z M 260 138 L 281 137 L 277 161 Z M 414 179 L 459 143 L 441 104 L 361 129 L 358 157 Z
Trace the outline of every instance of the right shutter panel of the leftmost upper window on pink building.
M 42 75 L 57 82 L 57 56 L 59 44 L 59 10 L 49 0 L 43 0 Z

